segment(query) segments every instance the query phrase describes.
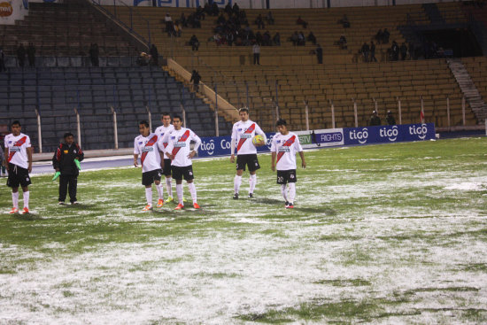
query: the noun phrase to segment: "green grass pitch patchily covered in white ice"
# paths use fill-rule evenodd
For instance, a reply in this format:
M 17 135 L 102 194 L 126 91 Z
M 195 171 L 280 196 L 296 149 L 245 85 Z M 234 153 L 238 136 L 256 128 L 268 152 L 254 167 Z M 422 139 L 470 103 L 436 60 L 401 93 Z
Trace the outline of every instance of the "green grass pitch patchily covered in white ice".
M 252 200 L 227 158 L 196 160 L 201 211 L 143 213 L 140 169 L 81 173 L 77 206 L 36 175 L 30 215 L 0 190 L 0 324 L 486 322 L 486 152 L 305 151 L 291 211 L 269 155 Z

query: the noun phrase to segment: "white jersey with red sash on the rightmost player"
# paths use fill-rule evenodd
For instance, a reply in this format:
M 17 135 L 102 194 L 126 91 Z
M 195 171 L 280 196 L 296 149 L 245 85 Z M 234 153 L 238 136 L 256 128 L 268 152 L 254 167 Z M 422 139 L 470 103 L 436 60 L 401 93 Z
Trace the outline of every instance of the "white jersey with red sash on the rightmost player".
M 275 168 L 277 170 L 296 169 L 296 152 L 303 151 L 299 137 L 295 133 L 282 135 L 276 133 L 271 143 L 271 152 L 277 152 Z

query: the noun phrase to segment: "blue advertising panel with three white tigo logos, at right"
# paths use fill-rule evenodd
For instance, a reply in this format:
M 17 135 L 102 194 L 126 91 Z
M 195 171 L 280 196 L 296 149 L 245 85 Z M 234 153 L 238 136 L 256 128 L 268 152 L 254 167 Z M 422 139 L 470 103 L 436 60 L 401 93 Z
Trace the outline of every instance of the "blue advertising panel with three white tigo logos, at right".
M 398 143 L 435 139 L 435 124 L 383 125 L 379 127 L 344 128 L 344 144 Z

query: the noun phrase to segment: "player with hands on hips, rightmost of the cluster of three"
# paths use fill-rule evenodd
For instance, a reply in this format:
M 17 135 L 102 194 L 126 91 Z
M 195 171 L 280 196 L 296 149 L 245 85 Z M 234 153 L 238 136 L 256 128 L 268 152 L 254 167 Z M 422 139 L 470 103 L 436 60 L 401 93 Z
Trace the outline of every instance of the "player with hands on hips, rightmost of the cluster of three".
M 171 159 L 171 169 L 173 178 L 176 180 L 176 193 L 179 204 L 174 210 L 181 210 L 184 207 L 182 200 L 182 178 L 188 183 L 189 193 L 193 199 L 193 207 L 199 209 L 197 204 L 197 189 L 195 187 L 193 175 L 193 163 L 191 159 L 195 157 L 197 149 L 201 144 L 201 139 L 189 128 L 182 128 L 182 118 L 179 115 L 173 117 L 174 131 L 169 135 L 166 147 L 166 156 Z M 193 150 L 189 148 L 189 143 L 195 142 Z

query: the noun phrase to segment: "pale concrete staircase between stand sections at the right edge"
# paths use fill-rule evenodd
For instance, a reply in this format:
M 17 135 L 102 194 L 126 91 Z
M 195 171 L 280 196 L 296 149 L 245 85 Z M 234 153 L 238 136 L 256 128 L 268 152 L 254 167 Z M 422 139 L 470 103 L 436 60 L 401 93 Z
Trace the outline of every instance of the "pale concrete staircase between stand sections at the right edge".
M 475 117 L 479 120 L 479 124 L 483 123 L 487 117 L 487 104 L 485 104 L 480 92 L 475 87 L 475 82 L 470 78 L 467 68 L 463 65 L 460 58 L 450 58 L 447 62 L 452 74 L 460 85 L 462 93 L 465 95 L 465 99 L 475 113 Z

